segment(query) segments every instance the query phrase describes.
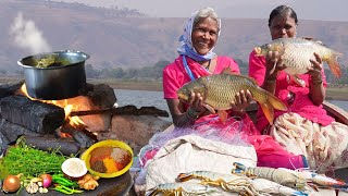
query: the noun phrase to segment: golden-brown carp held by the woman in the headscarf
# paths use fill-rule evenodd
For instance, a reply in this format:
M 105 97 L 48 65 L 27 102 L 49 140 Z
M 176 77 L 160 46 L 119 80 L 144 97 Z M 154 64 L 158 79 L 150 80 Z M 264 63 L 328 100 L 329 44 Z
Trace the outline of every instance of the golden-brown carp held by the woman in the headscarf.
M 235 75 L 228 72 L 199 77 L 186 83 L 179 88 L 177 96 L 187 101 L 191 93 L 199 93 L 203 97 L 204 107 L 211 113 L 216 113 L 224 123 L 227 112 L 232 108 L 232 102 L 236 102 L 235 96 L 240 90 L 249 90 L 252 98 L 258 101 L 270 124 L 273 124 L 274 108 L 277 110 L 287 110 L 282 100 L 271 93 L 262 89 L 251 77 Z

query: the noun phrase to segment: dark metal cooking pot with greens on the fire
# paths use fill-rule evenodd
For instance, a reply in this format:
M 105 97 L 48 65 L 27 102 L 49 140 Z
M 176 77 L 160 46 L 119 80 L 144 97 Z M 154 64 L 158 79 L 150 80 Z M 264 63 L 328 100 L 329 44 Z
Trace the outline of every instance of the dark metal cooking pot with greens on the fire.
M 67 99 L 78 96 L 86 85 L 87 53 L 73 50 L 39 53 L 17 61 L 24 69 L 27 93 L 44 100 Z

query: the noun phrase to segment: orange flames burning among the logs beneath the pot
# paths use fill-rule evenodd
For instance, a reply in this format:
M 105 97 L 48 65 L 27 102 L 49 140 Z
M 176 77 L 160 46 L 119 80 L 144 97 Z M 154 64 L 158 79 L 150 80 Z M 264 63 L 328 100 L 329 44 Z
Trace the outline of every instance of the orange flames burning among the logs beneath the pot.
M 30 97 L 27 94 L 26 90 L 26 86 L 25 84 L 22 85 L 22 87 L 18 89 L 18 91 L 16 93 L 17 95 L 24 95 L 26 97 L 28 97 L 32 100 L 38 100 L 41 102 L 46 102 L 46 103 L 51 103 L 51 105 L 55 105 L 58 107 L 61 107 L 64 109 L 65 112 L 65 122 L 69 122 L 69 124 L 72 127 L 75 128 L 85 128 L 85 123 L 83 120 L 80 120 L 78 117 L 70 117 L 72 111 L 79 111 L 79 110 L 89 110 L 91 109 L 91 103 L 89 101 L 89 99 L 87 97 L 84 96 L 77 96 L 77 97 L 73 97 L 70 99 L 62 99 L 62 100 L 40 100 L 40 99 L 35 99 L 33 97 Z

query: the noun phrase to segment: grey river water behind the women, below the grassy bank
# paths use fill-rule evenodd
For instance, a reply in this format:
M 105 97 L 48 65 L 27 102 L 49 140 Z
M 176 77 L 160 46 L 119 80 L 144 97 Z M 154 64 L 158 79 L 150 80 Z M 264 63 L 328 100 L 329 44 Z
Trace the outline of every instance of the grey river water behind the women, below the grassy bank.
M 169 112 L 163 91 L 115 89 L 119 106 L 134 105 L 140 107 L 156 107 Z M 328 102 L 348 111 L 348 101 L 327 100 Z

